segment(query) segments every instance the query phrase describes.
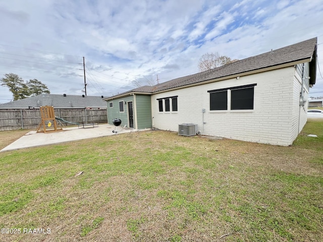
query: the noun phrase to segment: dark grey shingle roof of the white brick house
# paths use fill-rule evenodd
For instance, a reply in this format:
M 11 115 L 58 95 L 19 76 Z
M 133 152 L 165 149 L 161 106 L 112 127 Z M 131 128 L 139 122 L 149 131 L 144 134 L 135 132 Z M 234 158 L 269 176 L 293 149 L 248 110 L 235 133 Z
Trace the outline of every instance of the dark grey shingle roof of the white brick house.
M 167 91 L 173 88 L 181 88 L 188 85 L 199 84 L 201 82 L 214 79 L 227 79 L 251 73 L 264 72 L 282 67 L 292 66 L 299 63 L 313 62 L 310 64 L 310 84 L 315 84 L 316 78 L 316 43 L 317 38 L 308 39 L 296 44 L 292 44 L 280 49 L 271 50 L 263 54 L 255 55 L 240 61 L 214 68 L 205 72 L 196 73 L 186 77 L 180 77 L 168 82 L 160 83 L 155 86 L 139 87 L 104 100 L 112 100 L 130 93 L 153 94 Z

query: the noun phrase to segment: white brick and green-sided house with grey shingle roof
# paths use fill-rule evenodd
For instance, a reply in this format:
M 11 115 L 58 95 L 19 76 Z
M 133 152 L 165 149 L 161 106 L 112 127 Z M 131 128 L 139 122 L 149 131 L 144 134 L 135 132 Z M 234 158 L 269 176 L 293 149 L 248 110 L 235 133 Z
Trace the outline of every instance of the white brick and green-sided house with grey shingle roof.
M 178 131 L 197 124 L 203 135 L 291 145 L 306 123 L 316 79 L 317 38 L 209 71 L 105 98 L 108 123 Z

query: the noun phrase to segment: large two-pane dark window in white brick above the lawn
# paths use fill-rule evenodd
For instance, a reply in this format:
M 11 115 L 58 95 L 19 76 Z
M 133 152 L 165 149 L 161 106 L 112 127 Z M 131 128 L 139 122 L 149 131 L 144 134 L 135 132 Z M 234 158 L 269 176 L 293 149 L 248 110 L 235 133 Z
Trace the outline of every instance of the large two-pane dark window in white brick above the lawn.
M 229 106 L 230 110 L 253 109 L 254 86 L 256 85 L 250 84 L 207 91 L 210 93 L 210 110 L 228 110 Z

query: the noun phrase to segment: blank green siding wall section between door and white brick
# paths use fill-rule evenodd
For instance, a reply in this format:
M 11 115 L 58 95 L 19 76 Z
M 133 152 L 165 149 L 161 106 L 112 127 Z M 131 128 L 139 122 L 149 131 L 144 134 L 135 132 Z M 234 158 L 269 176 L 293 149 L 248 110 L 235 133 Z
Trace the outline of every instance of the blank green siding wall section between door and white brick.
M 136 95 L 138 129 L 152 128 L 150 95 Z

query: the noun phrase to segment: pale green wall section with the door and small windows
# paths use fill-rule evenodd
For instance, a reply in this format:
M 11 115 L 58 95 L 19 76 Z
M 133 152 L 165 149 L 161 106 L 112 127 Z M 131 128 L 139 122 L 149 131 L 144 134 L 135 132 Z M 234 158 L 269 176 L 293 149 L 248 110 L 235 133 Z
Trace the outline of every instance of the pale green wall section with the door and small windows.
M 119 101 L 123 101 L 124 112 L 119 111 Z M 106 109 L 107 109 L 107 123 L 109 125 L 113 125 L 112 120 L 115 118 L 121 119 L 121 127 L 124 127 L 128 124 L 128 107 L 125 105 L 125 102 L 133 101 L 133 96 L 122 97 L 118 99 L 114 99 L 112 101 L 106 102 Z M 113 107 L 110 107 L 110 102 L 113 102 Z

